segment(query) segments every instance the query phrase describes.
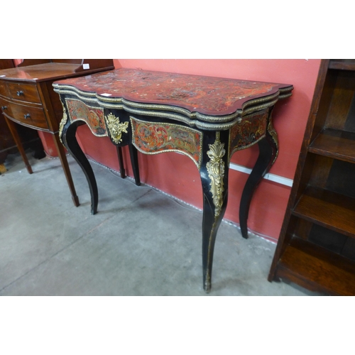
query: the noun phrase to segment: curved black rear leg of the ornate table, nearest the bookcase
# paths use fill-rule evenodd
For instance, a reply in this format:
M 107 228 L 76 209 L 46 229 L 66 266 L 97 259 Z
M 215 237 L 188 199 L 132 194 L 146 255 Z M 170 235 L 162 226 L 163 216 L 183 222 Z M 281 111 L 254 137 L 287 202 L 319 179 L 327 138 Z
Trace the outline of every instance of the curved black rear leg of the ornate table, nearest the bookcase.
M 278 137 L 271 121 L 268 122 L 268 131 L 266 137 L 258 141 L 259 155 L 256 164 L 251 170 L 246 185 L 244 186 L 241 195 L 241 203 L 239 207 L 239 223 L 241 226 L 241 235 L 243 238 L 248 239 L 248 226 L 247 220 L 249 215 L 249 207 L 253 192 L 258 187 L 259 182 L 263 179 L 264 175 L 270 170 L 273 163 L 275 163 L 278 155 Z

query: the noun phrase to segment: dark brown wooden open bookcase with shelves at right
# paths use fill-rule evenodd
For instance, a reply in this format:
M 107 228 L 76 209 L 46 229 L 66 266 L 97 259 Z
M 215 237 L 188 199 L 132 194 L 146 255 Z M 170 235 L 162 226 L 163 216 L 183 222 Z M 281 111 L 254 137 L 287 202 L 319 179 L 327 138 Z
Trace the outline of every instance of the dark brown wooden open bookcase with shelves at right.
M 355 295 L 355 60 L 322 60 L 268 280 Z

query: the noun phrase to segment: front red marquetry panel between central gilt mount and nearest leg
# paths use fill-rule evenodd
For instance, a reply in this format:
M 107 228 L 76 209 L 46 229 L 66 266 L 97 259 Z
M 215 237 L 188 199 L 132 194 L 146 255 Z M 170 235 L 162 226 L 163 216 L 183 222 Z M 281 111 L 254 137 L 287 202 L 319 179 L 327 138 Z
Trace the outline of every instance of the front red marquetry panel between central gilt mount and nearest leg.
M 201 165 L 202 132 L 177 124 L 141 121 L 131 117 L 133 145 L 143 153 L 177 151 Z

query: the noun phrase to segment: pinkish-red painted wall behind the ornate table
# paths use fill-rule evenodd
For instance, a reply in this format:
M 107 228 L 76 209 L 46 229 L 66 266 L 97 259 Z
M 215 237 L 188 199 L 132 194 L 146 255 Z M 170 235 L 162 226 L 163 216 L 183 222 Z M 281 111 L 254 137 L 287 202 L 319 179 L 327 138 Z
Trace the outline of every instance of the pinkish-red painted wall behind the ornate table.
M 180 72 L 195 75 L 231 77 L 293 84 L 293 96 L 278 102 L 273 113 L 273 122 L 278 131 L 280 152 L 270 173 L 293 179 L 298 154 L 310 112 L 320 60 L 114 60 L 116 68 L 136 67 L 143 70 Z M 78 138 L 85 153 L 100 163 L 119 170 L 116 149 L 107 138 L 97 138 L 86 126 L 78 129 Z M 253 146 L 234 153 L 231 163 L 251 168 L 258 156 L 258 147 Z M 126 170 L 133 176 L 129 155 L 124 148 Z M 139 153 L 141 181 L 157 187 L 170 195 L 202 207 L 200 174 L 189 158 L 177 153 L 143 155 Z M 245 173 L 229 170 L 229 204 L 225 219 L 239 222 L 239 200 Z M 254 195 L 249 212 L 249 229 L 278 239 L 283 216 L 290 195 L 290 187 L 263 180 Z

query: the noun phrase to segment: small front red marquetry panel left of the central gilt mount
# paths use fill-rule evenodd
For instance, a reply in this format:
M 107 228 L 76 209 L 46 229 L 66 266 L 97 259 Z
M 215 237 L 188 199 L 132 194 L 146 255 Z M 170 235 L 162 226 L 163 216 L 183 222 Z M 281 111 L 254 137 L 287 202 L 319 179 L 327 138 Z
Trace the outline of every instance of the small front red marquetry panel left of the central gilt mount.
M 70 121 L 85 121 L 95 136 L 107 136 L 104 109 L 90 107 L 77 99 L 66 99 Z

